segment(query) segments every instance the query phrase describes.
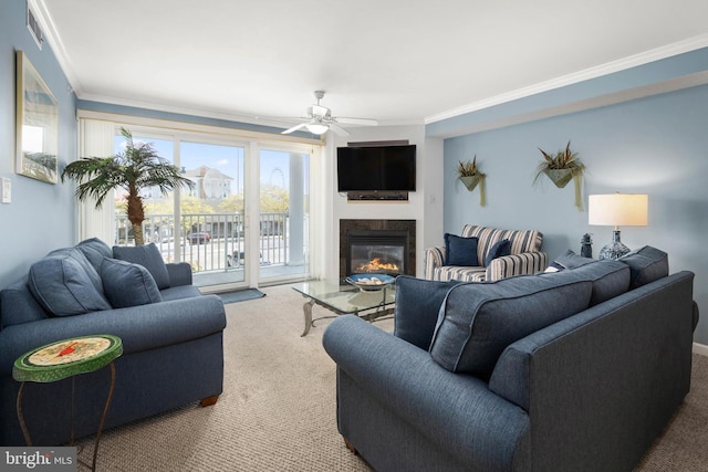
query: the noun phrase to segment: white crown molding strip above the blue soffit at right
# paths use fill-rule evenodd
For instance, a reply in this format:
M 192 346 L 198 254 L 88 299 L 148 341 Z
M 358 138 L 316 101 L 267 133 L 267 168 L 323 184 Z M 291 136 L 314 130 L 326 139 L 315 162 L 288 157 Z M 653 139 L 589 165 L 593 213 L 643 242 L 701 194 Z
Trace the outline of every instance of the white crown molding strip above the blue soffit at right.
M 428 125 L 430 123 L 454 118 L 456 116 L 465 115 L 467 113 L 479 112 L 480 109 L 489 108 L 496 105 L 501 105 L 508 102 L 513 102 L 520 98 L 525 98 L 528 96 L 537 95 L 543 92 L 549 92 L 566 85 L 590 81 L 592 78 L 597 78 L 603 75 L 608 75 L 615 72 L 625 71 L 627 69 L 648 64 L 652 62 L 656 62 L 666 57 L 695 51 L 706 46 L 708 46 L 708 34 L 701 34 L 699 36 L 695 36 L 688 40 L 667 44 L 665 46 L 656 48 L 650 51 L 631 55 L 628 57 L 608 62 L 595 67 L 585 69 L 583 71 L 579 71 L 572 74 L 552 78 L 550 81 L 541 82 L 535 85 L 531 85 L 528 87 L 518 88 L 512 92 L 496 95 L 479 102 L 470 103 L 468 105 L 449 109 L 447 112 L 441 112 L 435 115 L 430 115 L 425 118 L 425 124 Z

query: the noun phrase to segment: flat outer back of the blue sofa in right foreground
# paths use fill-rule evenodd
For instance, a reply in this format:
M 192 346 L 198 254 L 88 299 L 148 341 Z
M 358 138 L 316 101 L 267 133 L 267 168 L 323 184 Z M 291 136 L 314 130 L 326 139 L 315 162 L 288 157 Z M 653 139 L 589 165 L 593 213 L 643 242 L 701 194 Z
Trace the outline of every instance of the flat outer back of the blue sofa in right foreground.
M 636 465 L 690 389 L 693 280 L 663 277 L 507 347 L 489 386 L 543 432 L 534 469 Z

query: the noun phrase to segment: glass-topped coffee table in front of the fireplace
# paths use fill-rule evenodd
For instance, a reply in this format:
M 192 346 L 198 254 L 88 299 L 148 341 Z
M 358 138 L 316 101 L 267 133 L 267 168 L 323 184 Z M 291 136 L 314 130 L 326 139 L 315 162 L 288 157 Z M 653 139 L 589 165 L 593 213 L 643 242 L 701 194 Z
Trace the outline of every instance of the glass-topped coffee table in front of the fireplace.
M 293 290 L 309 298 L 302 305 L 305 329 L 301 336 L 305 336 L 317 319 L 352 314 L 371 322 L 391 315 L 394 313 L 396 301 L 395 284 L 385 285 L 378 290 L 364 291 L 353 285 L 342 285 L 340 281 L 313 281 L 298 284 L 293 286 Z M 335 315 L 313 321 L 312 307 L 314 305 L 324 306 Z

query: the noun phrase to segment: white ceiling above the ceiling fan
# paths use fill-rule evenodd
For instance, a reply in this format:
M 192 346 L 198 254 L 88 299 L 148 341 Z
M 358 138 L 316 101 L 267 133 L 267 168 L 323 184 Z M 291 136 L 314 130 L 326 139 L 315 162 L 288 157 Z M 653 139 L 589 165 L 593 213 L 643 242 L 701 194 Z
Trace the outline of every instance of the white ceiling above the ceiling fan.
M 434 122 L 708 45 L 706 0 L 30 4 L 80 98 L 251 123 L 315 90 L 335 116 Z

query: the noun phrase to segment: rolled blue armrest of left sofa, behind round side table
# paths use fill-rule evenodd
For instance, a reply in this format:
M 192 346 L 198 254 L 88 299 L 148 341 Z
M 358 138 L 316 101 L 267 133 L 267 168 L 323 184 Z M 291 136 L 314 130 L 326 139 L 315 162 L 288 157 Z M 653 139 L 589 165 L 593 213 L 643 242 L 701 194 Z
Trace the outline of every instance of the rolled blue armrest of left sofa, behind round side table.
M 123 352 L 131 354 L 206 337 L 225 327 L 223 302 L 217 295 L 22 323 L 0 332 L 0 376 L 10 376 L 14 359 L 28 350 L 74 336 L 116 335 Z

